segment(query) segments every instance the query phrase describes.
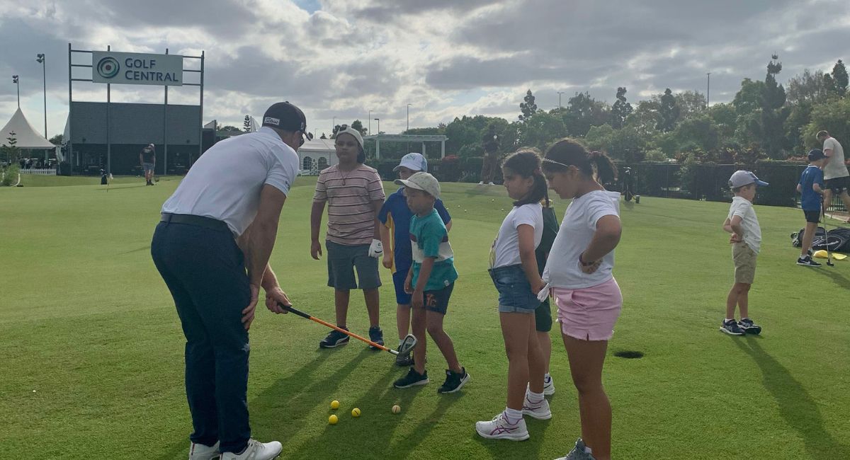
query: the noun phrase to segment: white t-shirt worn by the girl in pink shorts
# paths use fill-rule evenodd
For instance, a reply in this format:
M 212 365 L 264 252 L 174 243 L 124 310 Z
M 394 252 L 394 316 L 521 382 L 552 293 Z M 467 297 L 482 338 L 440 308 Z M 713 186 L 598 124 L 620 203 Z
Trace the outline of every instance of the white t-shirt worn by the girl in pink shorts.
M 590 288 L 614 277 L 613 250 L 603 256 L 596 272 L 582 272 L 579 263 L 579 255 L 587 250 L 596 233 L 596 223 L 604 216 L 620 218 L 620 192 L 594 190 L 567 206 L 543 271 L 543 279 L 553 288 Z

